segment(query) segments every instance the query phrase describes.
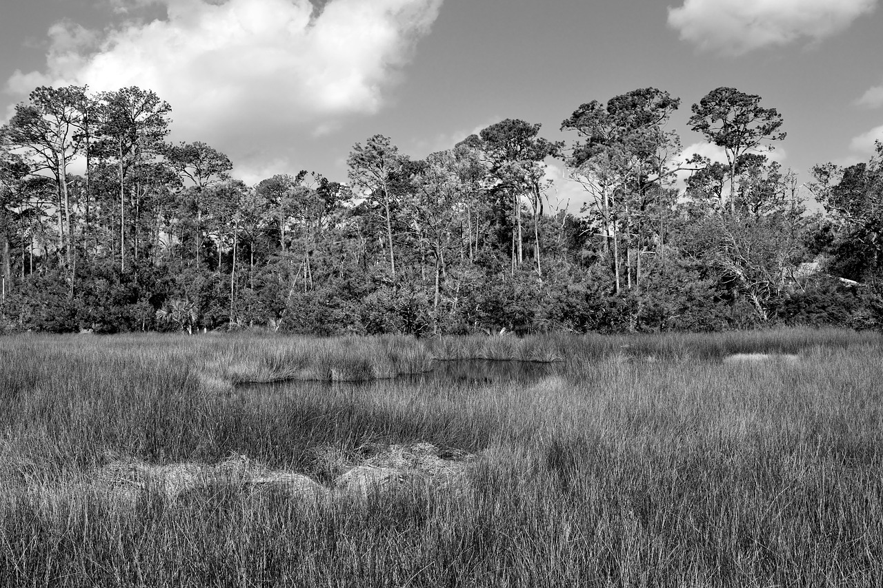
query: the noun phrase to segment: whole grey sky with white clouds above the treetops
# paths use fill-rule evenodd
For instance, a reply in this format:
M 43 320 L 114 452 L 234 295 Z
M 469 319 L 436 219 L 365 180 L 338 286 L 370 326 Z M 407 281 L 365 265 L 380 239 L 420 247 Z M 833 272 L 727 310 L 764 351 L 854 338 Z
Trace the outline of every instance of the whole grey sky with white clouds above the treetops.
M 138 86 L 170 102 L 170 139 L 209 143 L 250 184 L 298 170 L 343 181 L 352 145 L 374 133 L 412 157 L 504 118 L 571 141 L 558 129 L 581 103 L 638 87 L 679 96 L 672 128 L 711 155 L 686 121 L 730 86 L 779 109 L 775 158 L 808 181 L 883 140 L 879 4 L 4 0 L 0 120 L 41 85 Z M 550 195 L 580 198 L 565 182 Z

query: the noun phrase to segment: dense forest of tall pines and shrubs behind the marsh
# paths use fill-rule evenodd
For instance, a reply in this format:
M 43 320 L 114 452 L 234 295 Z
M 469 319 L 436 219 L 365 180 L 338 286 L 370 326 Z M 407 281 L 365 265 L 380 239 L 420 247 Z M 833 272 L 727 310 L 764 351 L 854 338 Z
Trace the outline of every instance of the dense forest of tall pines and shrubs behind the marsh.
M 685 160 L 680 100 L 641 88 L 579 106 L 567 144 L 506 119 L 417 160 L 374 135 L 346 183 L 245 185 L 167 142 L 150 90 L 39 87 L 0 130 L 0 332 L 879 328 L 883 145 L 804 183 L 765 155 L 785 133 L 760 102 L 692 105 L 726 163 Z M 578 214 L 550 204 L 553 159 Z

